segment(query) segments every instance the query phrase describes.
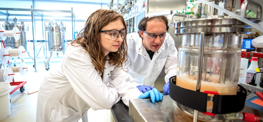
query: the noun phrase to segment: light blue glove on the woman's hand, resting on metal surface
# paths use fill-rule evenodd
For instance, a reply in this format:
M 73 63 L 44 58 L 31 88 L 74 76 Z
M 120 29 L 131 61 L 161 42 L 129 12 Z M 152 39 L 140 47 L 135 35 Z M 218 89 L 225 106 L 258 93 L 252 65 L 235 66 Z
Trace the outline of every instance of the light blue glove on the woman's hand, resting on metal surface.
M 141 94 L 138 98 L 147 98 L 149 96 L 152 99 L 152 103 L 154 103 L 155 100 L 156 101 L 163 100 L 163 94 L 161 94 L 156 88 Z

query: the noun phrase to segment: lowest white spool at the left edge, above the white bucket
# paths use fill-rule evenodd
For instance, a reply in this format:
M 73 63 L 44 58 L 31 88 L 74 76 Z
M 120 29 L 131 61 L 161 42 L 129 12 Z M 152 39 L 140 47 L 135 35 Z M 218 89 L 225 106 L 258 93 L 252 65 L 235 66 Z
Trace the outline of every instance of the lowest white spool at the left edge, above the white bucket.
M 12 82 L 14 77 L 14 73 L 12 68 L 7 67 L 4 69 L 0 69 L 0 82 Z

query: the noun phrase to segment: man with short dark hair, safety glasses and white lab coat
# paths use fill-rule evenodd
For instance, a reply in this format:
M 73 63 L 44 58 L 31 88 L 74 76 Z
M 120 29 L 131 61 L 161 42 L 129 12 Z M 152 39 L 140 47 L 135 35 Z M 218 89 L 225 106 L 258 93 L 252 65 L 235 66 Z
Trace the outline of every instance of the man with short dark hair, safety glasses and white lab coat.
M 168 19 L 165 16 L 143 18 L 139 32 L 127 35 L 128 56 L 125 69 L 131 83 L 145 93 L 154 87 L 154 82 L 165 66 L 164 95 L 169 94 L 169 78 L 176 75 L 177 49 L 168 34 Z

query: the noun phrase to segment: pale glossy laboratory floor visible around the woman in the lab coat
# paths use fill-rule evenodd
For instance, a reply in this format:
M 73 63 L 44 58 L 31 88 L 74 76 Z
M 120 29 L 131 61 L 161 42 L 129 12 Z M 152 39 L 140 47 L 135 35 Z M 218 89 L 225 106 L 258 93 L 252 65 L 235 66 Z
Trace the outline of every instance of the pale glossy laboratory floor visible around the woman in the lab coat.
M 53 68 L 57 63 L 50 63 L 50 68 Z M 43 63 L 37 64 L 38 72 L 34 72 L 32 63 L 27 63 L 28 71 L 26 76 L 17 74 L 14 76 L 15 81 L 27 81 L 25 84 L 25 91 L 29 89 L 38 89 L 43 76 L 46 74 L 46 69 Z M 15 86 L 12 86 L 14 88 Z M 0 122 L 35 122 L 36 121 L 36 107 L 37 107 L 38 92 L 30 95 L 21 93 L 19 89 L 10 95 L 11 99 L 11 115 Z M 110 122 L 110 110 L 88 110 L 89 122 Z M 82 122 L 80 119 L 79 122 Z

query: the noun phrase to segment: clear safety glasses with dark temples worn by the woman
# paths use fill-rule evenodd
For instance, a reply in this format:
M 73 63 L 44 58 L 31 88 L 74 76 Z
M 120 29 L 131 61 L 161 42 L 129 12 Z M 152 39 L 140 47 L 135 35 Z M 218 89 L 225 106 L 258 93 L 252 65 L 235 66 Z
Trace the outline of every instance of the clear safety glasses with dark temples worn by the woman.
M 125 29 L 123 30 L 105 30 L 105 31 L 99 31 L 100 33 L 103 33 L 104 37 L 107 39 L 118 39 L 119 35 L 121 35 L 121 38 L 123 39 L 125 37 Z

